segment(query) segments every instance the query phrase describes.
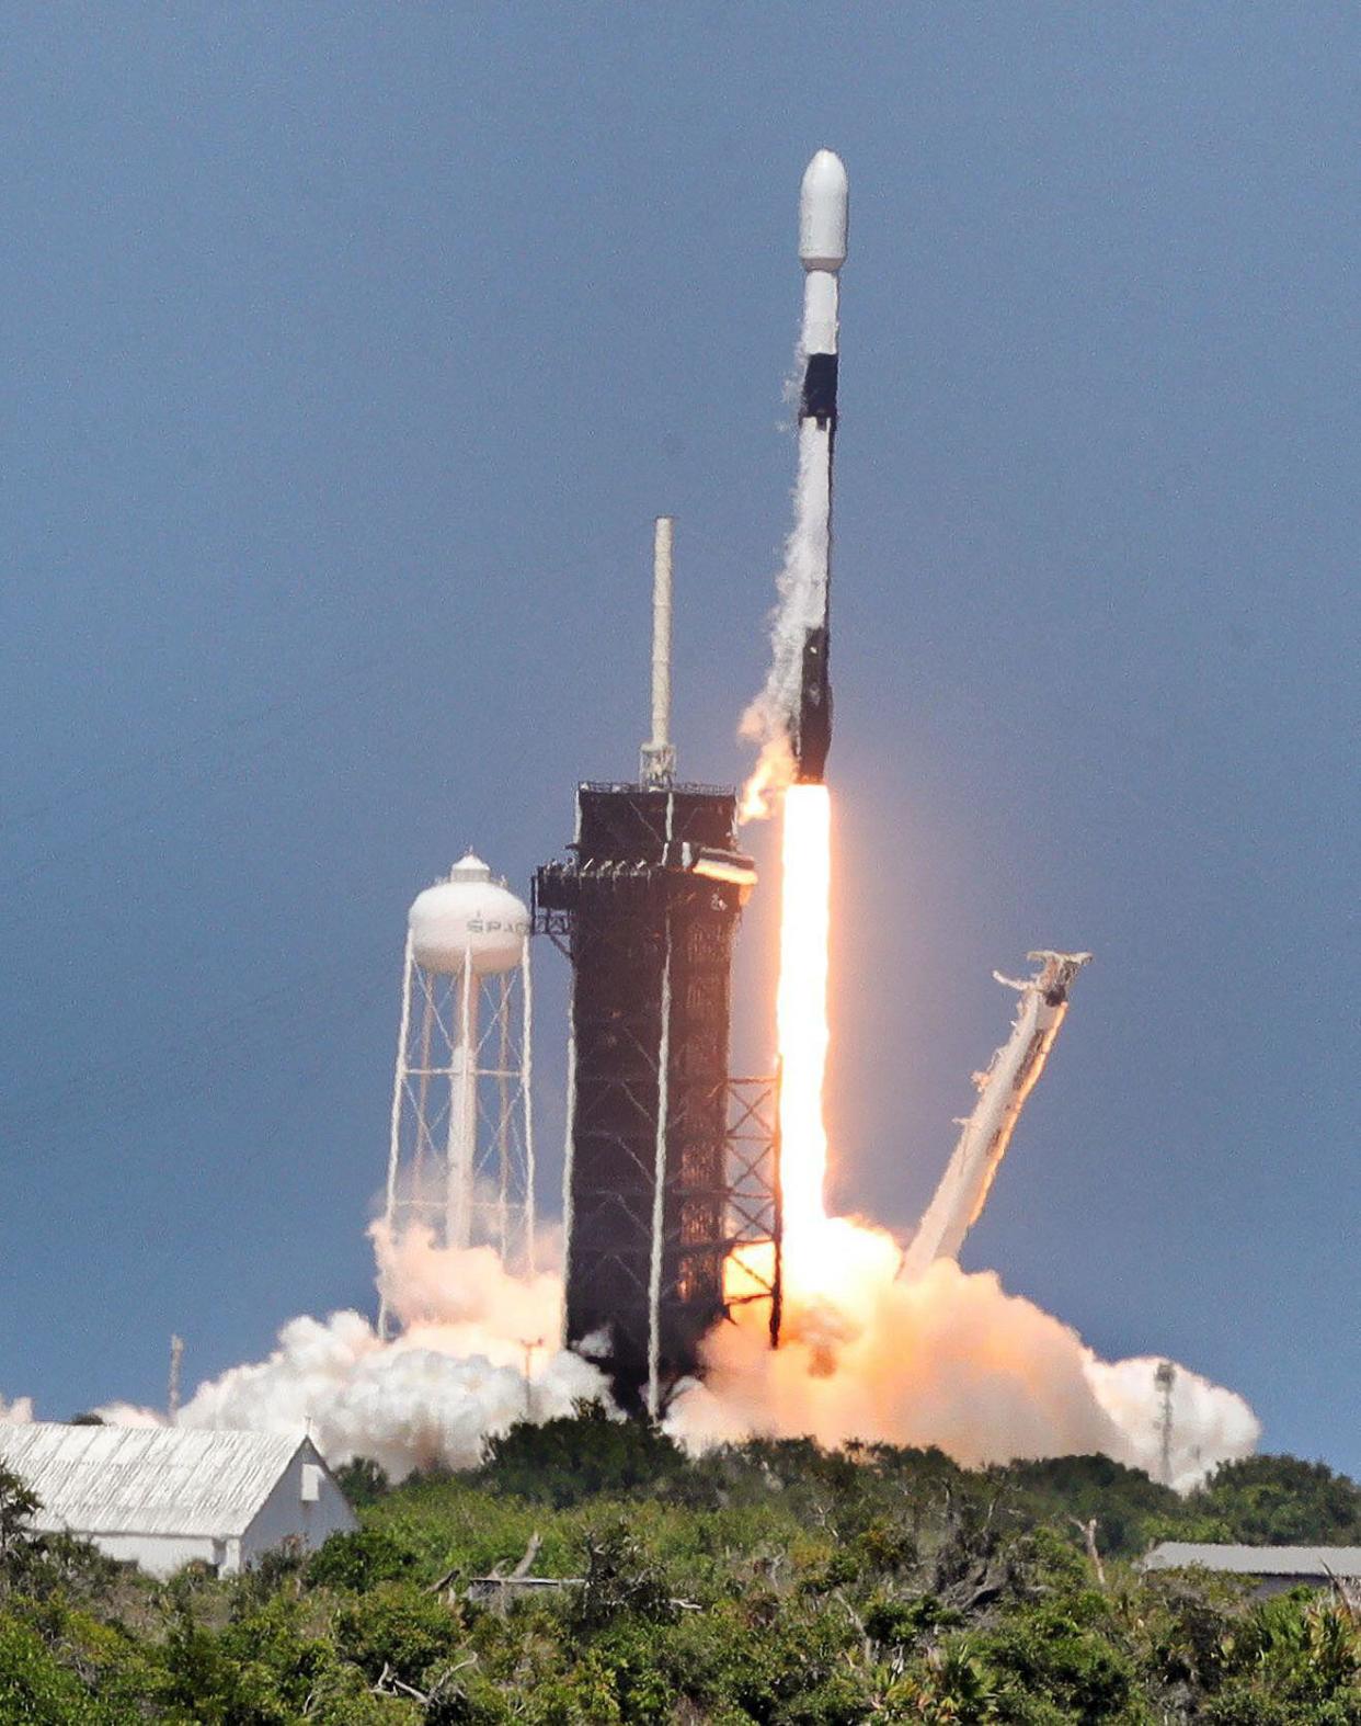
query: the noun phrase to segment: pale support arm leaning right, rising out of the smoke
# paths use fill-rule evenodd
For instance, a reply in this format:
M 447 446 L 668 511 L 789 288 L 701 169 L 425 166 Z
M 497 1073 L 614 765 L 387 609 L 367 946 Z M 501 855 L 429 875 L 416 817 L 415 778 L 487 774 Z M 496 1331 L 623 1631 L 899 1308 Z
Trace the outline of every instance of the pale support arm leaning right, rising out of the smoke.
M 987 1072 L 975 1074 L 978 1103 L 968 1120 L 959 1122 L 954 1155 L 902 1257 L 899 1276 L 909 1282 L 923 1276 L 937 1258 L 959 1257 L 964 1236 L 987 1203 L 1025 1101 L 1054 1048 L 1068 1013 L 1068 989 L 1092 954 L 1044 951 L 1032 953 L 1030 958 L 1042 965 L 1023 982 L 994 972 L 997 982 L 1021 996 L 1016 1022 Z

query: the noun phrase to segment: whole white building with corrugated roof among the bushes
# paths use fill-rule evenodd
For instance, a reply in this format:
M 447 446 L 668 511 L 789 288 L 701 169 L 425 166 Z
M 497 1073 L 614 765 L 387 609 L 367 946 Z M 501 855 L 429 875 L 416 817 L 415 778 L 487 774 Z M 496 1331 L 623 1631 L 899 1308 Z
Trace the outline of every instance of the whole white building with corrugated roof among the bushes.
M 0 1464 L 38 1495 L 40 1533 L 71 1533 L 152 1576 L 198 1560 L 233 1576 L 285 1541 L 355 1529 L 309 1438 L 193 1427 L 0 1424 Z

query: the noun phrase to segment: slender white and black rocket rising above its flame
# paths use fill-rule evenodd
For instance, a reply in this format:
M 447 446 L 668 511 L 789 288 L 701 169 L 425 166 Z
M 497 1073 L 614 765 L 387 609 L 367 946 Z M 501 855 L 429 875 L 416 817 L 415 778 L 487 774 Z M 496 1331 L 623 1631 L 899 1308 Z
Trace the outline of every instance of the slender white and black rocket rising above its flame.
M 819 150 L 807 164 L 799 193 L 799 259 L 804 266 L 799 535 L 812 564 L 812 592 L 790 747 L 793 777 L 802 784 L 821 782 L 831 747 L 831 457 L 837 442 L 838 271 L 845 262 L 849 209 L 845 166 L 835 152 Z

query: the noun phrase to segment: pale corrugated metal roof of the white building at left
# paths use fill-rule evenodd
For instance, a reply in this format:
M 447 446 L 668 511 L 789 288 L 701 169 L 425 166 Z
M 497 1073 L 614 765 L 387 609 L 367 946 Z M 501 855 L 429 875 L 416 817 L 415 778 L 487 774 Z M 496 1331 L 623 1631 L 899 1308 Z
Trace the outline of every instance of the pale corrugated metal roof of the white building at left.
M 300 1433 L 0 1424 L 0 1462 L 43 1503 L 36 1526 L 79 1534 L 241 1534 L 302 1443 Z

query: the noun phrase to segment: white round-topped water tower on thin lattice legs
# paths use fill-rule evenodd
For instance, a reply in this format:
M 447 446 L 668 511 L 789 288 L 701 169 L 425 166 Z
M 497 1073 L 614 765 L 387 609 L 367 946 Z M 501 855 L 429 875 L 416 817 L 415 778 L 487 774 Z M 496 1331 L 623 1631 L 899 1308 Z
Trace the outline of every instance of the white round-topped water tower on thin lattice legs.
M 530 911 L 471 851 L 407 913 L 385 1219 L 533 1269 Z M 386 1334 L 386 1307 L 379 1331 Z

